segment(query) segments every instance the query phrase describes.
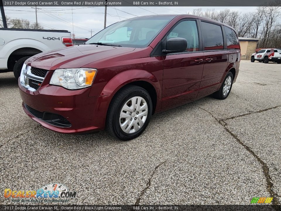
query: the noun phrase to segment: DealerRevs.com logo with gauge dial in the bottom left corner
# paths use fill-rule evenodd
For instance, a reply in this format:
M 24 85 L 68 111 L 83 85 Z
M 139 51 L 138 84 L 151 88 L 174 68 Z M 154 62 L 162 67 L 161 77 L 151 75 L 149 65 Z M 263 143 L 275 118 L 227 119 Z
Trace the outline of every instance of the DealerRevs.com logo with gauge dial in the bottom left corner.
M 12 202 L 31 203 L 31 202 L 65 202 L 76 197 L 75 191 L 59 183 L 44 185 L 38 190 L 4 190 L 4 197 L 11 198 Z

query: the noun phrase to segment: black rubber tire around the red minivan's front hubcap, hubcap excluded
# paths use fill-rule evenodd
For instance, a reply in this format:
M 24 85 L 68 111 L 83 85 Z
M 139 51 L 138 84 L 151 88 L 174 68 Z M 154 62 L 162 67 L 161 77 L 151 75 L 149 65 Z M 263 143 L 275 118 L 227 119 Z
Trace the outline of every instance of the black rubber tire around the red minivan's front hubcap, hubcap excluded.
M 142 97 L 148 105 L 147 118 L 142 127 L 134 133 L 126 133 L 121 129 L 119 117 L 124 104 L 132 97 Z M 110 135 L 122 141 L 128 141 L 138 137 L 147 127 L 152 115 L 152 100 L 149 93 L 140 86 L 128 85 L 119 90 L 113 97 L 107 112 L 106 130 Z

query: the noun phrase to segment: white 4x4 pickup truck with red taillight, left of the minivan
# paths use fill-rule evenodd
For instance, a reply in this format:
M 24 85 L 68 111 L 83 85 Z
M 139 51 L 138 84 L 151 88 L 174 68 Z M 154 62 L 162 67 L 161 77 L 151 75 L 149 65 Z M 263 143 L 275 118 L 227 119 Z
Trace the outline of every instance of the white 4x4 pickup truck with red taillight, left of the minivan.
M 71 33 L 67 30 L 0 28 L 0 72 L 8 69 L 18 79 L 29 57 L 72 45 Z

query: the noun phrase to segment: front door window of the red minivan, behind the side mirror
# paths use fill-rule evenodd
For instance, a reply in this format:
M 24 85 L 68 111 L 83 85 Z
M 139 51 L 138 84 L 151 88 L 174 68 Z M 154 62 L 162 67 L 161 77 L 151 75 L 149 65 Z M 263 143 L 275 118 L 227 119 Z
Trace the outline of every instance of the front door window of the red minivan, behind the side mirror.
M 167 36 L 170 38 L 185 38 L 187 41 L 186 51 L 199 51 L 198 29 L 196 21 L 180 22 Z

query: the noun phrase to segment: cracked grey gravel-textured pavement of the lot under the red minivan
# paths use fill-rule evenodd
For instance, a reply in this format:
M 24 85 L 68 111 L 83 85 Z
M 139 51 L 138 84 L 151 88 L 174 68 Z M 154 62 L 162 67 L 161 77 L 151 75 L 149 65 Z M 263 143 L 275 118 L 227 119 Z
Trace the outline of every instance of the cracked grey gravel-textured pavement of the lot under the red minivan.
M 43 128 L 23 112 L 13 73 L 1 73 L 0 204 L 13 204 L 5 188 L 54 182 L 77 192 L 68 204 L 280 204 L 280 90 L 281 64 L 242 60 L 226 100 L 156 114 L 121 142 Z

